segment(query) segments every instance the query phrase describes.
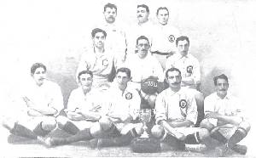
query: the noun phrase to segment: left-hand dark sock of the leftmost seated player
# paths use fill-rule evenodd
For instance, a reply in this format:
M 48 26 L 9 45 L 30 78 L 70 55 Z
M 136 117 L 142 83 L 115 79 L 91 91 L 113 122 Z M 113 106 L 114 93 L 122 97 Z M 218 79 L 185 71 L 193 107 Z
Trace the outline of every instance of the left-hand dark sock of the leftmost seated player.
M 32 130 L 18 123 L 15 123 L 15 127 L 11 129 L 9 132 L 21 137 L 32 138 L 32 139 L 38 138 L 36 133 L 33 133 Z

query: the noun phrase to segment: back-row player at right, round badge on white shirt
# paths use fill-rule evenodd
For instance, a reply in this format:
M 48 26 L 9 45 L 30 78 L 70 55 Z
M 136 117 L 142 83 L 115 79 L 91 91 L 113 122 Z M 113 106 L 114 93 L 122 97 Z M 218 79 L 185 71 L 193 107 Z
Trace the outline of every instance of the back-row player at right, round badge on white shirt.
M 176 53 L 175 40 L 180 33 L 177 28 L 168 23 L 169 10 L 166 7 L 160 7 L 156 11 L 158 24 L 152 36 L 151 52 L 159 59 L 163 69 L 166 69 L 166 59 L 168 56 Z

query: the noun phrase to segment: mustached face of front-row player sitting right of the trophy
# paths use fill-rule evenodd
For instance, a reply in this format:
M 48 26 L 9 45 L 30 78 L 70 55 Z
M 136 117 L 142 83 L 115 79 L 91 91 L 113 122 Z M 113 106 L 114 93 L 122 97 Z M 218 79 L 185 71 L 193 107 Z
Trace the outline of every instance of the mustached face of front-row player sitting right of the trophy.
M 169 87 L 175 88 L 175 89 L 181 87 L 180 84 L 181 84 L 182 77 L 180 76 L 178 71 L 168 71 L 166 79 L 169 84 Z

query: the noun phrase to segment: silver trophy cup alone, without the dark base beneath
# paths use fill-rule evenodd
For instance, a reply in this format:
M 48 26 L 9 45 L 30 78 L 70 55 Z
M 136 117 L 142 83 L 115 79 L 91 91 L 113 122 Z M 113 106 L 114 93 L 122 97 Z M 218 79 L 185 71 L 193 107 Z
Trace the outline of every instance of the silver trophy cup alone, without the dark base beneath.
M 143 131 L 144 131 L 140 138 L 149 138 L 149 134 L 147 132 L 148 130 L 147 123 L 151 120 L 151 110 L 150 109 L 140 110 L 140 120 L 143 122 Z

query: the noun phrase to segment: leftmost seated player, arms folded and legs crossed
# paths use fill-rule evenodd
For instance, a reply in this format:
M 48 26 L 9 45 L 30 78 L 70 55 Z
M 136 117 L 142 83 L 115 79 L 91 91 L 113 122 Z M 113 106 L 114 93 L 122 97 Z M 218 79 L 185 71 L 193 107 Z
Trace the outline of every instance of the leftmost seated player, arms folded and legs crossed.
M 6 116 L 3 127 L 21 137 L 44 141 L 55 130 L 55 116 L 63 108 L 61 87 L 46 79 L 46 66 L 35 63 L 31 67 L 32 81 L 22 90 L 21 103 L 16 104 L 19 115 Z

